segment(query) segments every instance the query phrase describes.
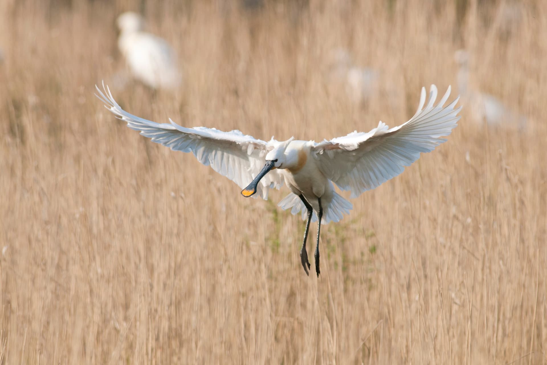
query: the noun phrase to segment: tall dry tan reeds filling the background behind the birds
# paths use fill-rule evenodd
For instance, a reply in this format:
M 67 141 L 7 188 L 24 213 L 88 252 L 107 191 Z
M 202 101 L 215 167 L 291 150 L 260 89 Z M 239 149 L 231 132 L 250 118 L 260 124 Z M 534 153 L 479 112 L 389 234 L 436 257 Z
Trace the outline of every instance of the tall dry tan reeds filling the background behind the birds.
M 3 0 L 0 362 L 545 363 L 547 3 L 522 2 L 509 28 L 508 5 Z M 276 207 L 287 190 L 243 199 L 93 96 L 124 67 L 115 16 L 141 8 L 184 69 L 174 94 L 113 91 L 152 120 L 263 139 L 393 126 L 422 85 L 456 86 L 467 48 L 475 88 L 528 129 L 464 107 L 447 143 L 323 227 L 307 277 L 304 222 Z M 337 47 L 381 72 L 368 106 L 330 87 Z

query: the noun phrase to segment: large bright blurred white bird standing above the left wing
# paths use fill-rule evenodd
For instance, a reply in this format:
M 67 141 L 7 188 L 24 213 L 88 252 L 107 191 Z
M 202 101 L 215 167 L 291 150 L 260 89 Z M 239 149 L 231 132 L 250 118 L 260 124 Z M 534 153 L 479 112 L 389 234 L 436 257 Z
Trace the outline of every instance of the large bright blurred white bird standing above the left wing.
M 117 20 L 118 47 L 133 77 L 153 89 L 174 89 L 181 83 L 176 56 L 164 39 L 144 32 L 141 15 L 127 11 Z

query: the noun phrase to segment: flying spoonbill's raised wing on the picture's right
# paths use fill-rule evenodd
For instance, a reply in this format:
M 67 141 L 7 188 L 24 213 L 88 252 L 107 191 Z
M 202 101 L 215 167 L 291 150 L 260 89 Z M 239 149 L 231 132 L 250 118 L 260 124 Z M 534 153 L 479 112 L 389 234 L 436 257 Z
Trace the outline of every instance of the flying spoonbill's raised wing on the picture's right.
M 456 127 L 461 107 L 454 109 L 459 97 L 444 107 L 450 95 L 450 86 L 443 99 L 435 106 L 437 87 L 431 85 L 429 101 L 422 88 L 420 106 L 414 117 L 404 124 L 388 129 L 380 121 L 368 133 L 352 132 L 345 137 L 324 140 L 312 147 L 319 169 L 340 189 L 351 190 L 355 198 L 366 190 L 399 175 L 420 157 L 445 142 L 441 136 Z

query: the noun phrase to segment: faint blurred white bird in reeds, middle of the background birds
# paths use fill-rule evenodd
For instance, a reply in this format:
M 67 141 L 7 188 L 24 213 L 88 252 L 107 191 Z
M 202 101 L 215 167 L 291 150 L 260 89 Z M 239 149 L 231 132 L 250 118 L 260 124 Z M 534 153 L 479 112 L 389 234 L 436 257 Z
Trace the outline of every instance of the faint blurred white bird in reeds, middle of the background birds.
M 364 103 L 378 92 L 379 72 L 373 68 L 355 66 L 345 49 L 331 51 L 329 72 L 337 83 L 344 85 L 353 103 Z

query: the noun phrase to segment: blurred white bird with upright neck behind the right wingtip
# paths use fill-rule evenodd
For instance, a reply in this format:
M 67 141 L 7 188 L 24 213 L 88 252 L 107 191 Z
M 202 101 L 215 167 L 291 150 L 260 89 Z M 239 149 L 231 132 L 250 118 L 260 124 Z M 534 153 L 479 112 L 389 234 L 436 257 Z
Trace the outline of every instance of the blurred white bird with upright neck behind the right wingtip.
M 465 103 L 472 108 L 476 120 L 490 126 L 526 128 L 526 117 L 519 115 L 503 105 L 503 102 L 490 94 L 469 90 L 469 53 L 465 50 L 457 50 L 455 60 L 459 65 L 458 88 Z

